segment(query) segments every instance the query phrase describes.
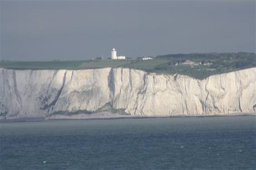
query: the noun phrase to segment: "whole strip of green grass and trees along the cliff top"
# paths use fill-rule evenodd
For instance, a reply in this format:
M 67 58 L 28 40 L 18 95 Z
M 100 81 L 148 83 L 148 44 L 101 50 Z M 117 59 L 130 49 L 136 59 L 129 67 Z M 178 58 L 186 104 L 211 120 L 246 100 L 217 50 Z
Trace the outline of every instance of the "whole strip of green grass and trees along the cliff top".
M 184 66 L 185 60 L 211 65 Z M 210 75 L 228 73 L 256 67 L 254 53 L 194 53 L 159 55 L 153 60 L 81 60 L 81 61 L 1 61 L 0 68 L 7 69 L 96 69 L 96 68 L 133 68 L 149 73 L 184 74 L 197 79 Z

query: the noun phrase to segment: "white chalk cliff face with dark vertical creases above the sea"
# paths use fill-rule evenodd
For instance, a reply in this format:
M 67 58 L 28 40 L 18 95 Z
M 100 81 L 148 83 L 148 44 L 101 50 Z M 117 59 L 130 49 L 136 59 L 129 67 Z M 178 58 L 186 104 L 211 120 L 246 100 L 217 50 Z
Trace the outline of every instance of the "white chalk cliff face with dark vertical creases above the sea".
M 256 112 L 256 68 L 197 80 L 133 69 L 0 69 L 0 119 Z

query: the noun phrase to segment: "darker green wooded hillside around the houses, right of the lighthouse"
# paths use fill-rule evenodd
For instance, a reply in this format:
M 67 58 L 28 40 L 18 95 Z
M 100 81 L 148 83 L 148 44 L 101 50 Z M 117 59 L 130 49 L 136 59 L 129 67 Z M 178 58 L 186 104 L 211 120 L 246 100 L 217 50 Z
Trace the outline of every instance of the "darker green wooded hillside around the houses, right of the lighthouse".
M 159 65 L 156 72 L 179 73 L 204 79 L 210 75 L 228 73 L 241 69 L 256 67 L 256 54 L 254 53 L 194 53 L 194 54 L 169 54 L 156 56 L 157 59 L 169 59 L 169 63 Z M 212 65 L 175 66 L 177 62 L 193 60 L 202 63 L 212 63 Z

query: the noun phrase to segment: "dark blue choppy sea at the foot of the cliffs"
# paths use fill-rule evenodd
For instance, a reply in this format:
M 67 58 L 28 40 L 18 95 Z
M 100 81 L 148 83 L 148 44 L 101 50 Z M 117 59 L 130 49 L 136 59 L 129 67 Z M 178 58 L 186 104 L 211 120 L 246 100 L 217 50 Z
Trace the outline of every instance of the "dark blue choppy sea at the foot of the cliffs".
M 256 117 L 1 123 L 1 169 L 256 169 Z

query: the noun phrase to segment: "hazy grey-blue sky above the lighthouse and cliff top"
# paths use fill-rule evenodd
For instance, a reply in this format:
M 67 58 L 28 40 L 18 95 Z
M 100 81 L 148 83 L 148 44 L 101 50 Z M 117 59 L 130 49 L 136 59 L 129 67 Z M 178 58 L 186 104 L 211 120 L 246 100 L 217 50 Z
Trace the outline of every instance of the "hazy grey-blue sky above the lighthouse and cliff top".
M 255 53 L 255 1 L 1 1 L 1 59 Z

